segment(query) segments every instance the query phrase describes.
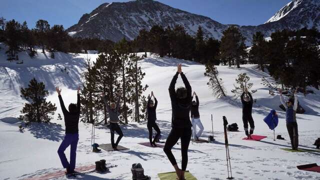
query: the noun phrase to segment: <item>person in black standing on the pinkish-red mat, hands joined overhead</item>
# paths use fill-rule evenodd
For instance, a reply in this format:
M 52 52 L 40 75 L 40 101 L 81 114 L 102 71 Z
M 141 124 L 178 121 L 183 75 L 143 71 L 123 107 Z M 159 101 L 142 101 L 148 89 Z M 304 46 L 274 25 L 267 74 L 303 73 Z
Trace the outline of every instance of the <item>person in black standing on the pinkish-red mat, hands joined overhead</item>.
M 243 121 L 245 135 L 248 138 L 251 138 L 251 134 L 253 133 L 253 130 L 254 130 L 254 121 L 252 118 L 253 99 L 252 99 L 251 93 L 248 92 L 247 88 L 245 88 L 243 93 L 241 94 L 241 102 L 242 102 L 242 121 Z M 250 124 L 250 132 L 248 132 L 248 122 Z

